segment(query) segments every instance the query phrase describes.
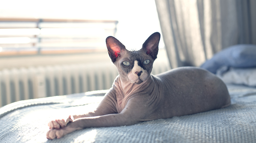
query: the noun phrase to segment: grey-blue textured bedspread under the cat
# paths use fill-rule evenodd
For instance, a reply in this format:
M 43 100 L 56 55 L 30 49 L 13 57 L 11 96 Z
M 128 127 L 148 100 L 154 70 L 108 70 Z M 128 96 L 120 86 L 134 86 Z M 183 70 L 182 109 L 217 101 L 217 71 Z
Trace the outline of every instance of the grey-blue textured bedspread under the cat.
M 229 107 L 132 126 L 87 128 L 48 140 L 48 122 L 93 110 L 106 91 L 11 103 L 0 108 L 0 142 L 256 142 L 256 88 L 228 86 Z

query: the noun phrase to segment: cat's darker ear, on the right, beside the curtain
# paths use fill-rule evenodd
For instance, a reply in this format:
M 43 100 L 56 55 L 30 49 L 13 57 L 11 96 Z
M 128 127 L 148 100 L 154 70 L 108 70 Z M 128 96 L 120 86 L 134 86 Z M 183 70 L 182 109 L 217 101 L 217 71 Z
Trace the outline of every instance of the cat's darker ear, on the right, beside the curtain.
M 152 56 L 155 60 L 158 54 L 158 44 L 160 41 L 160 33 L 155 32 L 148 37 L 148 39 L 143 43 L 142 50 L 147 53 L 147 55 Z

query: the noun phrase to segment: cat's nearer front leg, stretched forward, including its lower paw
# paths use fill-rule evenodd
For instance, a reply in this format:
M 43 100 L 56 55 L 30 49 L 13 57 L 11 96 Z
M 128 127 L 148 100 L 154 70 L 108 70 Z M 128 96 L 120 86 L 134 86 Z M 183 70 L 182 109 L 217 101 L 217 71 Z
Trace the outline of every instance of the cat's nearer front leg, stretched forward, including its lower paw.
M 151 120 L 145 118 L 147 114 L 151 114 L 151 112 L 140 99 L 130 99 L 121 113 L 78 118 L 73 120 L 73 122 L 69 122 L 64 128 L 50 129 L 46 136 L 48 139 L 54 139 L 61 138 L 68 133 L 84 128 L 133 125 L 142 121 Z

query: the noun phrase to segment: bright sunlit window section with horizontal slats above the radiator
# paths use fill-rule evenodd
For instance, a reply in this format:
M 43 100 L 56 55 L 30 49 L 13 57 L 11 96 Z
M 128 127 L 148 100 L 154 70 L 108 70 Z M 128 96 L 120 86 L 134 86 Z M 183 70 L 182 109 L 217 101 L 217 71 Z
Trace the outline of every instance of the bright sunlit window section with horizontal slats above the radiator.
M 0 18 L 0 56 L 83 53 L 105 49 L 118 21 Z

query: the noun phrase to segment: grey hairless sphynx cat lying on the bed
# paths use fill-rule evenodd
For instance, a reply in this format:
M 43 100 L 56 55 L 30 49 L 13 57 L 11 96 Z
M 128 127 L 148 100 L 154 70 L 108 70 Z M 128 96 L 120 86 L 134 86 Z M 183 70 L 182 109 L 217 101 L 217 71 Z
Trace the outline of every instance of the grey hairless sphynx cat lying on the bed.
M 227 87 L 214 74 L 196 67 L 151 75 L 160 33 L 153 33 L 138 51 L 128 51 L 116 38 L 106 39 L 119 75 L 95 111 L 50 121 L 48 139 L 89 127 L 127 126 L 226 107 Z

